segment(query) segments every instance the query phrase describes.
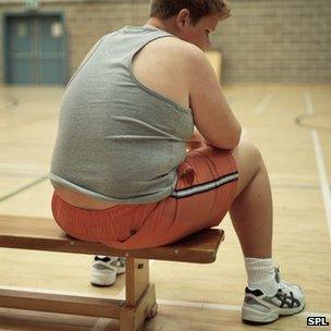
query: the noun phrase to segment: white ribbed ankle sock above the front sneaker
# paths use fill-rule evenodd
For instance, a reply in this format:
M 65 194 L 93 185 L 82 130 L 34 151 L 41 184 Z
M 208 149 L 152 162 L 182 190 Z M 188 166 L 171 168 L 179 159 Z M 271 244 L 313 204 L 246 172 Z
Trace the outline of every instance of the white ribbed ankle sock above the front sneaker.
M 275 281 L 275 272 L 271 258 L 245 258 L 247 282 L 249 290 L 260 290 L 266 295 L 272 296 L 277 293 L 279 284 Z

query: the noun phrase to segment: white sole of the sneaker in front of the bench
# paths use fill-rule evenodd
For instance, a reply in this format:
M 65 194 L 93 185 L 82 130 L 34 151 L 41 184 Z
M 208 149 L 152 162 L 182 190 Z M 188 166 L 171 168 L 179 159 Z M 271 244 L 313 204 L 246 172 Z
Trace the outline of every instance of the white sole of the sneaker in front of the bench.
M 282 310 L 282 311 L 271 311 L 270 314 L 266 315 L 261 311 L 257 311 L 254 309 L 250 309 L 249 307 L 243 307 L 243 322 L 245 324 L 250 326 L 263 326 L 263 324 L 270 324 L 279 319 L 280 316 L 291 316 L 296 315 L 305 309 L 305 306 L 298 307 L 297 309 L 289 309 Z M 250 317 L 249 317 L 250 315 Z

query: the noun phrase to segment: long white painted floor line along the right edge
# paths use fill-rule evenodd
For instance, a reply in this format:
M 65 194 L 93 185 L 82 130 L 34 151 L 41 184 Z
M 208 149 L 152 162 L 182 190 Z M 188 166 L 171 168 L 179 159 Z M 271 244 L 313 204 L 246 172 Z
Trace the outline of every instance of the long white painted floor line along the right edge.
M 308 114 L 314 113 L 314 107 L 311 101 L 311 96 L 308 90 L 304 94 L 306 110 Z M 320 145 L 319 136 L 316 130 L 311 130 L 311 139 L 314 144 L 315 149 L 315 157 L 319 173 L 319 182 L 320 182 L 320 188 L 322 193 L 322 198 L 324 203 L 324 209 L 326 209 L 326 217 L 327 217 L 327 225 L 329 230 L 329 236 L 331 240 L 331 192 L 330 192 L 330 184 L 328 181 L 327 170 L 326 170 L 326 162 L 323 158 L 322 148 Z

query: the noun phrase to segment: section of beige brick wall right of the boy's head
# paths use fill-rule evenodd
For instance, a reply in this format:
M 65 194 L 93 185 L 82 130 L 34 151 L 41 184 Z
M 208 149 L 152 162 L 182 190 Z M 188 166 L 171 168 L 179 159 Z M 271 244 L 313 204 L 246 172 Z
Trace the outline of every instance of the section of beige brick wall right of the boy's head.
M 331 83 L 330 0 L 232 0 L 214 47 L 222 79 Z

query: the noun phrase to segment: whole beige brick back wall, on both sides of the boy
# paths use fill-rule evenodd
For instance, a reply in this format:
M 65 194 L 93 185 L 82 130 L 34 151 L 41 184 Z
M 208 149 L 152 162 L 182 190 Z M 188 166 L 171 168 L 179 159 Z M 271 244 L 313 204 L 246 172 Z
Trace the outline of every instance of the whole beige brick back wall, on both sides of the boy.
M 0 0 L 0 15 L 23 11 L 23 2 Z M 39 2 L 40 11 L 64 13 L 71 76 L 102 35 L 123 25 L 144 24 L 149 1 Z M 232 0 L 231 4 L 232 17 L 212 37 L 213 48 L 223 53 L 224 83 L 331 83 L 331 0 Z M 0 40 L 0 82 L 2 63 Z

